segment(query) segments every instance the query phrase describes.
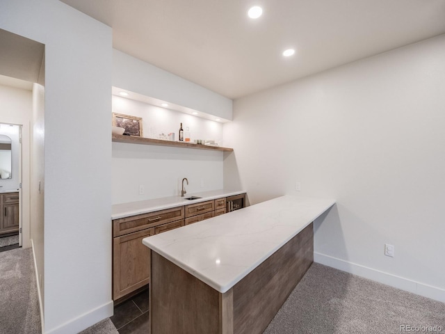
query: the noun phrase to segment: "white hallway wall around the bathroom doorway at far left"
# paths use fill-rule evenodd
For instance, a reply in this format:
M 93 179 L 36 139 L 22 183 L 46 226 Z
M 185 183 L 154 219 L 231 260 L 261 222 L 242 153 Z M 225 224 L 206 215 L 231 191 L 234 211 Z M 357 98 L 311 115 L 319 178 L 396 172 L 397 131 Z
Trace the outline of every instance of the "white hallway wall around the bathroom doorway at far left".
M 30 90 L 0 86 L 0 122 L 22 125 L 22 247 L 31 247 L 30 228 Z M 17 176 L 16 176 L 17 177 Z M 6 180 L 7 181 L 7 180 Z M 17 188 L 16 188 L 17 189 Z

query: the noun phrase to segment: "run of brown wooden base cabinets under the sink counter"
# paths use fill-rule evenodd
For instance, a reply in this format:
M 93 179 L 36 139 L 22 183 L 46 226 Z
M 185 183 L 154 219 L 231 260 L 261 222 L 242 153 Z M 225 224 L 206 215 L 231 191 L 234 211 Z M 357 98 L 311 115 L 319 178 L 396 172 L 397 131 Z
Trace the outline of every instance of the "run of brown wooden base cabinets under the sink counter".
M 242 200 L 245 194 L 217 198 L 180 207 L 113 220 L 113 301 L 124 301 L 150 282 L 150 250 L 142 239 L 228 212 L 227 200 Z

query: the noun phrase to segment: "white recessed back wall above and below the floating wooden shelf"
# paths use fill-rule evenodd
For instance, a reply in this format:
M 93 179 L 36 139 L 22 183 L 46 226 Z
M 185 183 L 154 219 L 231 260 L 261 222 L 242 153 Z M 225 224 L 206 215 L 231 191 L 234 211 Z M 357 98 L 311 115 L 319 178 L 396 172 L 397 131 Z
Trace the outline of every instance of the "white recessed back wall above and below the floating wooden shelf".
M 175 133 L 179 123 L 190 129 L 193 139 L 222 141 L 223 125 L 178 111 L 113 96 L 113 112 L 143 118 L 143 135 Z M 178 196 L 187 177 L 188 193 L 223 188 L 223 152 L 113 143 L 113 204 L 150 198 Z M 201 180 L 204 184 L 201 186 Z M 139 186 L 144 194 L 139 194 Z

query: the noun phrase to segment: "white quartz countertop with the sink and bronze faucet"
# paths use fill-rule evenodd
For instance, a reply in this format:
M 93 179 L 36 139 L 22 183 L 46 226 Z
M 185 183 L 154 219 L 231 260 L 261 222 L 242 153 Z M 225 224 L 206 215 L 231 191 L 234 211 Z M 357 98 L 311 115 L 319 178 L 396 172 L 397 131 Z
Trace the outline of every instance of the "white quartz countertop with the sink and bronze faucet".
M 204 191 L 202 193 L 186 193 L 185 198 L 191 196 L 201 197 L 197 200 L 185 200 L 181 196 L 171 196 L 164 198 L 155 198 L 152 200 L 140 200 L 138 202 L 115 204 L 111 207 L 111 219 L 136 216 L 137 214 L 147 214 L 148 212 L 170 209 L 171 207 L 180 207 L 181 205 L 188 205 L 193 203 L 205 202 L 206 200 L 214 200 L 216 198 L 235 196 L 239 195 L 240 193 L 245 193 L 245 191 L 220 189 L 213 191 Z

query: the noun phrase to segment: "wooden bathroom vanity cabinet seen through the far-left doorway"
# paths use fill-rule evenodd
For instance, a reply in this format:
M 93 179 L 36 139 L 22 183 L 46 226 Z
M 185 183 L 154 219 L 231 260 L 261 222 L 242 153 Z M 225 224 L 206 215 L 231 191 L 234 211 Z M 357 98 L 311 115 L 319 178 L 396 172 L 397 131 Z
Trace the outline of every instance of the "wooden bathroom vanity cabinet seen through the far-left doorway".
M 0 235 L 19 232 L 19 193 L 0 194 Z

